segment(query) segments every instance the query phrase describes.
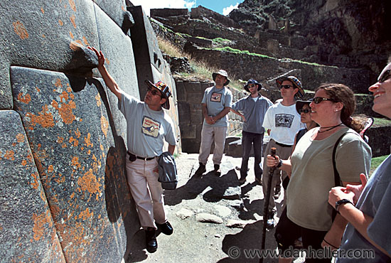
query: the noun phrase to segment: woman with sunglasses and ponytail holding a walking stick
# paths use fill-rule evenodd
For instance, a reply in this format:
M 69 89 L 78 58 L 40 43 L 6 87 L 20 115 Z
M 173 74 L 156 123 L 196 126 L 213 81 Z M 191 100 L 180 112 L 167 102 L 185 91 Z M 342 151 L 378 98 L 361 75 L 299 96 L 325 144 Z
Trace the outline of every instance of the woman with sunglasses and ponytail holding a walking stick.
M 279 262 L 291 262 L 286 251 L 298 237 L 306 250 L 306 262 L 331 262 L 331 253 L 326 252 L 341 245 L 347 221 L 341 215 L 333 219 L 328 191 L 336 186 L 333 149 L 342 135 L 335 154 L 342 185 L 358 184 L 360 173 L 368 174 L 370 168 L 370 147 L 353 131 L 361 129 L 360 123 L 351 118 L 355 109 L 353 91 L 342 84 L 323 84 L 316 89 L 310 107 L 311 119 L 319 127 L 301 137 L 291 159 L 282 161 L 279 156 L 267 156 L 267 166 L 291 173 L 286 190 L 286 217 L 280 219 L 275 233 L 283 252 Z

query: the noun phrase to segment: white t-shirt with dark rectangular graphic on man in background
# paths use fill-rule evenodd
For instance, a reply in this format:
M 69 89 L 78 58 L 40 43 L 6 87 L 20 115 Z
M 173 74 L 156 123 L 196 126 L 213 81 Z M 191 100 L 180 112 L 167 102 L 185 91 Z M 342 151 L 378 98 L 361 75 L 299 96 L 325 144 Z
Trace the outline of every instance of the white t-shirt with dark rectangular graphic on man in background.
M 296 104 L 284 106 L 281 102 L 267 109 L 262 127 L 271 130 L 270 139 L 286 145 L 293 145 L 296 133 L 305 128 L 296 111 Z

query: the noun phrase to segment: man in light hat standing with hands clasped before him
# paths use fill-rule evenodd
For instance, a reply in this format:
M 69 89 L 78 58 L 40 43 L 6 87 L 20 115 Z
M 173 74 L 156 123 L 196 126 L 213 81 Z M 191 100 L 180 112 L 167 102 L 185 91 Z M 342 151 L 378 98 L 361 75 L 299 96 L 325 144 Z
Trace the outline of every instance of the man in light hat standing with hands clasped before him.
M 225 70 L 219 70 L 212 74 L 215 85 L 208 87 L 201 102 L 203 109 L 203 129 L 201 132 L 201 145 L 198 161 L 200 166 L 195 175 L 201 176 L 206 171 L 206 162 L 210 154 L 210 146 L 215 139 L 215 150 L 213 152 L 214 172 L 216 176 L 221 175 L 220 163 L 223 158 L 225 136 L 228 129 L 228 117 L 232 104 L 232 92 L 225 87 L 230 83 Z

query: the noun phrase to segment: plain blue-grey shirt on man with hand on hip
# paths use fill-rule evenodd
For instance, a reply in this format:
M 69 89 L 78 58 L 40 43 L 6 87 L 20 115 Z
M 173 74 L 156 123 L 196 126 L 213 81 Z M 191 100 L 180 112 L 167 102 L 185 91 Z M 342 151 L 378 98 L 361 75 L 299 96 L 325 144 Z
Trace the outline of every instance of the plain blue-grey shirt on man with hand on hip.
M 244 132 L 263 134 L 264 128 L 262 127 L 262 123 L 264 114 L 272 104 L 273 103 L 266 97 L 259 95 L 258 97 L 253 98 L 250 95 L 232 104 L 232 109 L 240 111 L 245 115 L 246 122 L 243 122 Z

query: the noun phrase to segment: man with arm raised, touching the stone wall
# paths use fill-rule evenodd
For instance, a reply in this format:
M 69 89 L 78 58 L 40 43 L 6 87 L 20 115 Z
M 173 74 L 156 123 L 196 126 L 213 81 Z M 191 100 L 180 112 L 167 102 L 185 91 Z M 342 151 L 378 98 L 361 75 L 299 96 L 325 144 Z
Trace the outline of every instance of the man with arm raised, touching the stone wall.
M 105 68 L 102 51 L 93 50 L 98 58 L 97 69 L 109 90 L 118 98 L 119 110 L 127 120 L 127 179 L 136 203 L 141 227 L 146 230 L 146 249 L 156 252 L 156 230 L 166 235 L 173 233 L 173 227 L 164 211 L 163 188 L 159 183 L 158 157 L 163 153 L 164 141 L 173 154 L 176 136 L 173 122 L 162 109 L 169 109 L 170 87 L 164 82 L 155 84 L 146 80 L 148 92 L 144 102 L 126 94 Z

